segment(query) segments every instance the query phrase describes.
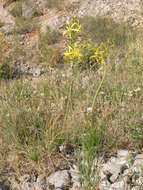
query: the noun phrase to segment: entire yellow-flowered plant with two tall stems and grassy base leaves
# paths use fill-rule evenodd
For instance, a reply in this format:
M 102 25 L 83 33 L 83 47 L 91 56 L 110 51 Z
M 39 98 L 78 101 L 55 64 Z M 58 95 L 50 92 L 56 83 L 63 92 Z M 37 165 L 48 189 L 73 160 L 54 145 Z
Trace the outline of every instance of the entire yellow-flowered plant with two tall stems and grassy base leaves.
M 97 85 L 97 88 L 93 89 L 93 100 L 91 105 L 91 121 L 89 122 L 89 128 L 86 131 L 84 136 L 84 140 L 82 140 L 82 151 L 83 151 L 83 164 L 81 164 L 81 168 L 84 168 L 86 165 L 87 172 L 82 181 L 82 186 L 84 189 L 91 189 L 95 188 L 94 183 L 91 181 L 91 171 L 92 171 L 92 164 L 95 158 L 95 153 L 100 150 L 100 146 L 102 141 L 104 140 L 104 133 L 102 130 L 97 131 L 98 126 L 95 123 L 94 113 L 95 113 L 95 103 L 97 100 L 97 96 L 100 93 L 101 87 L 105 80 L 106 76 L 106 57 L 107 57 L 107 48 L 103 43 L 94 45 L 89 42 L 85 42 L 84 44 L 82 41 L 78 40 L 78 35 L 81 31 L 81 24 L 78 20 L 73 19 L 72 23 L 67 23 L 66 31 L 64 32 L 64 36 L 66 36 L 66 44 L 67 50 L 64 53 L 64 57 L 71 63 L 72 68 L 72 77 L 69 85 L 69 95 L 67 100 L 67 107 L 66 107 L 66 115 L 65 119 L 67 119 L 67 115 L 69 113 L 69 109 L 73 108 L 73 85 L 74 80 L 76 78 L 76 71 L 75 69 L 78 68 L 79 64 L 83 67 L 92 68 L 97 64 L 103 66 L 103 76 L 101 81 Z M 82 40 L 82 39 L 81 39 Z M 84 60 L 84 61 L 82 61 Z M 91 64 L 92 63 L 92 64 Z M 84 65 L 85 64 L 85 65 Z M 83 172 L 83 171 L 82 171 Z M 84 171 L 85 172 L 85 171 Z M 86 184 L 87 183 L 87 184 Z

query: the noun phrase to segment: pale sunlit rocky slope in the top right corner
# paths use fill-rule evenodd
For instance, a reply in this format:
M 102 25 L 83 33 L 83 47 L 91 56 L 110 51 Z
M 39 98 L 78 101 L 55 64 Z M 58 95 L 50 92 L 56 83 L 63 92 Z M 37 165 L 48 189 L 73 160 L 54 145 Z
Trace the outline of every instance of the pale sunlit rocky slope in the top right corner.
M 78 15 L 111 16 L 115 21 L 127 21 L 137 26 L 143 23 L 142 7 L 142 0 L 82 0 Z

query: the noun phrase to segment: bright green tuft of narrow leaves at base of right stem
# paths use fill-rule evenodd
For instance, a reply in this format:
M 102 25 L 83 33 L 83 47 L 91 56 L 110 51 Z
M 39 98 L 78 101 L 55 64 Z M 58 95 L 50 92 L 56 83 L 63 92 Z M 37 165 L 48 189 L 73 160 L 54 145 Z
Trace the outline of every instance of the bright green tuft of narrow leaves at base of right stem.
M 93 170 L 93 161 L 101 155 L 101 149 L 105 141 L 106 124 L 103 121 L 96 122 L 96 128 L 89 128 L 82 141 L 82 154 L 79 156 L 80 183 L 83 189 L 96 189 L 98 184 L 99 166 Z M 81 162 L 82 160 L 82 162 Z

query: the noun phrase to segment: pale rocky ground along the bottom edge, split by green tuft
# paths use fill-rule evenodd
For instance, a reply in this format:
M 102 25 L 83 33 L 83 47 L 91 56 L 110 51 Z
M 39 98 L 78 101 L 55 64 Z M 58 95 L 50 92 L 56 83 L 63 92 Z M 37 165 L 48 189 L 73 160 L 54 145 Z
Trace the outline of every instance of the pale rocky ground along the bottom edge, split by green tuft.
M 81 161 L 82 162 L 82 161 Z M 86 165 L 86 163 L 85 163 Z M 96 189 L 99 190 L 141 190 L 143 189 L 143 154 L 134 151 L 118 150 L 114 155 L 94 159 L 91 179 L 98 175 Z M 7 185 L 1 189 L 15 190 L 81 190 L 78 166 L 57 170 L 49 176 L 8 176 Z

